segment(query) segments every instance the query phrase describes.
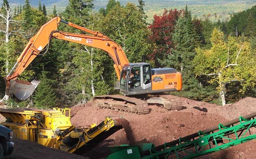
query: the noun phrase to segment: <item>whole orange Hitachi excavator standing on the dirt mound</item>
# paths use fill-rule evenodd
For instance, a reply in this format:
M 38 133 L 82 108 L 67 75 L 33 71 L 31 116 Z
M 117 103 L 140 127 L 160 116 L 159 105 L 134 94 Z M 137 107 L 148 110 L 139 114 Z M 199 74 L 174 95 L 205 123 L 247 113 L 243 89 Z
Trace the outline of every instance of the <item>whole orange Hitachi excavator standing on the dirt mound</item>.
M 63 22 L 87 34 L 57 31 Z M 117 89 L 124 95 L 95 96 L 93 104 L 99 108 L 111 108 L 138 114 L 147 114 L 148 103 L 160 103 L 168 110 L 180 109 L 182 102 L 175 96 L 161 92 L 180 91 L 182 88 L 181 73 L 174 68 L 154 68 L 148 63 L 129 63 L 123 49 L 115 41 L 98 31 L 80 27 L 55 17 L 44 24 L 33 36 L 18 57 L 14 67 L 5 77 L 6 93 L 20 100 L 26 100 L 34 92 L 39 81 L 26 82 L 16 80 L 26 67 L 43 51 L 47 51 L 52 38 L 71 41 L 98 48 L 114 61 L 114 69 L 119 79 Z

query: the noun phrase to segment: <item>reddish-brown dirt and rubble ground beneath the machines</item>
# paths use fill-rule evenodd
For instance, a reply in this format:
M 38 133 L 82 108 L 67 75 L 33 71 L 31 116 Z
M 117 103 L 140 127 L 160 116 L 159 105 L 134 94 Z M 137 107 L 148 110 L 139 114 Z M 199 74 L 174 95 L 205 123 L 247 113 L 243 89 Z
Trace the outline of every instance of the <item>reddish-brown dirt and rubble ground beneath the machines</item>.
M 68 154 L 66 152 L 52 150 L 36 143 L 15 140 L 15 150 L 5 159 L 105 159 L 110 151 L 108 146 L 117 144 L 154 143 L 156 146 L 165 142 L 176 140 L 225 123 L 239 116 L 256 112 L 256 99 L 247 97 L 234 104 L 218 106 L 205 102 L 197 102 L 181 98 L 184 109 L 180 111 L 168 111 L 156 105 L 150 105 L 151 112 L 146 115 L 131 114 L 123 111 L 98 109 L 91 103 L 74 106 L 71 109 L 71 122 L 76 127 L 87 127 L 92 123 L 101 122 L 105 116 L 113 119 L 123 118 L 129 122 L 129 128 L 117 131 L 108 139 L 82 156 Z M 256 141 L 240 144 L 226 150 L 201 156 L 197 159 L 256 159 Z

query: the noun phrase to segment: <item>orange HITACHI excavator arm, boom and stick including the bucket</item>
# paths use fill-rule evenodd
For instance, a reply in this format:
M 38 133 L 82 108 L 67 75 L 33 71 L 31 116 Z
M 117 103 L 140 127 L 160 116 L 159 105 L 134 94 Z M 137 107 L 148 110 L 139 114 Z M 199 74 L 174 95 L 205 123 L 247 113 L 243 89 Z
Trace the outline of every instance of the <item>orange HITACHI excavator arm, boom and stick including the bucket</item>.
M 91 35 L 57 31 L 60 22 L 68 24 L 71 27 L 82 30 Z M 40 55 L 40 52 L 47 51 L 50 39 L 52 39 L 52 37 L 106 51 L 114 61 L 114 69 L 117 73 L 118 80 L 120 79 L 120 71 L 123 65 L 129 63 L 123 49 L 107 36 L 102 35 L 97 31 L 91 31 L 90 29 L 81 27 L 79 25 L 68 23 L 67 21 L 61 20 L 60 17 L 54 17 L 52 20 L 44 24 L 39 29 L 37 34 L 29 40 L 29 43 L 27 43 L 25 49 L 18 57 L 14 67 L 12 67 L 8 76 L 5 77 L 7 95 L 15 96 L 20 100 L 26 100 L 34 92 L 35 88 L 39 84 L 39 81 L 33 80 L 31 83 L 29 83 L 16 80 L 16 78 L 27 68 L 35 57 Z

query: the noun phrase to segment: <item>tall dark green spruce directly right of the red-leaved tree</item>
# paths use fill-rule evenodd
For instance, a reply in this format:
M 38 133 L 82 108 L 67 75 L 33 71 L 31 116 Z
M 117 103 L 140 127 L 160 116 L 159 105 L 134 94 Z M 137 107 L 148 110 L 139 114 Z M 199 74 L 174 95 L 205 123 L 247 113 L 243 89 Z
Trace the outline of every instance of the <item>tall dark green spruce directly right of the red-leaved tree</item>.
M 196 27 L 198 27 L 198 29 Z M 200 37 L 197 31 L 200 33 L 200 22 L 195 21 L 195 25 L 193 25 L 190 12 L 182 12 L 176 22 L 172 36 L 174 47 L 167 58 L 162 60 L 162 65 L 164 67 L 176 68 L 182 73 L 183 91 L 176 92 L 176 94 L 182 94 L 183 96 L 198 100 L 202 99 L 204 96 L 201 95 L 200 98 L 196 97 L 203 93 L 205 95 L 207 90 L 200 86 L 193 73 L 194 65 L 192 61 L 196 55 L 195 47 L 200 44 Z

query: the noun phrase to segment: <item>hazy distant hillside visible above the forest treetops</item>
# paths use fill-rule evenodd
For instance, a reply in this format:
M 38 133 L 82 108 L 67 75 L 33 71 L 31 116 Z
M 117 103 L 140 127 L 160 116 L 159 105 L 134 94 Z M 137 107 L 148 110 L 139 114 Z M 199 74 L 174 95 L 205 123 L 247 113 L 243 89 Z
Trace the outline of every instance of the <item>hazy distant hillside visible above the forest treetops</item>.
M 25 0 L 8 0 L 11 6 L 24 5 Z M 106 7 L 109 0 L 94 0 L 94 9 Z M 117 1 L 117 0 L 116 0 Z M 138 5 L 138 0 L 119 0 L 121 5 L 128 2 Z M 148 16 L 148 22 L 151 23 L 153 16 L 161 15 L 164 8 L 166 9 L 182 9 L 188 5 L 192 16 L 198 18 L 209 17 L 212 21 L 229 20 L 230 14 L 233 12 L 241 12 L 256 5 L 256 0 L 144 0 L 144 10 Z M 2 3 L 2 2 L 1 2 Z M 39 0 L 30 0 L 33 7 L 38 7 Z M 45 4 L 48 12 L 52 12 L 53 5 L 56 5 L 58 12 L 62 12 L 68 5 L 68 0 L 41 0 L 41 4 Z

